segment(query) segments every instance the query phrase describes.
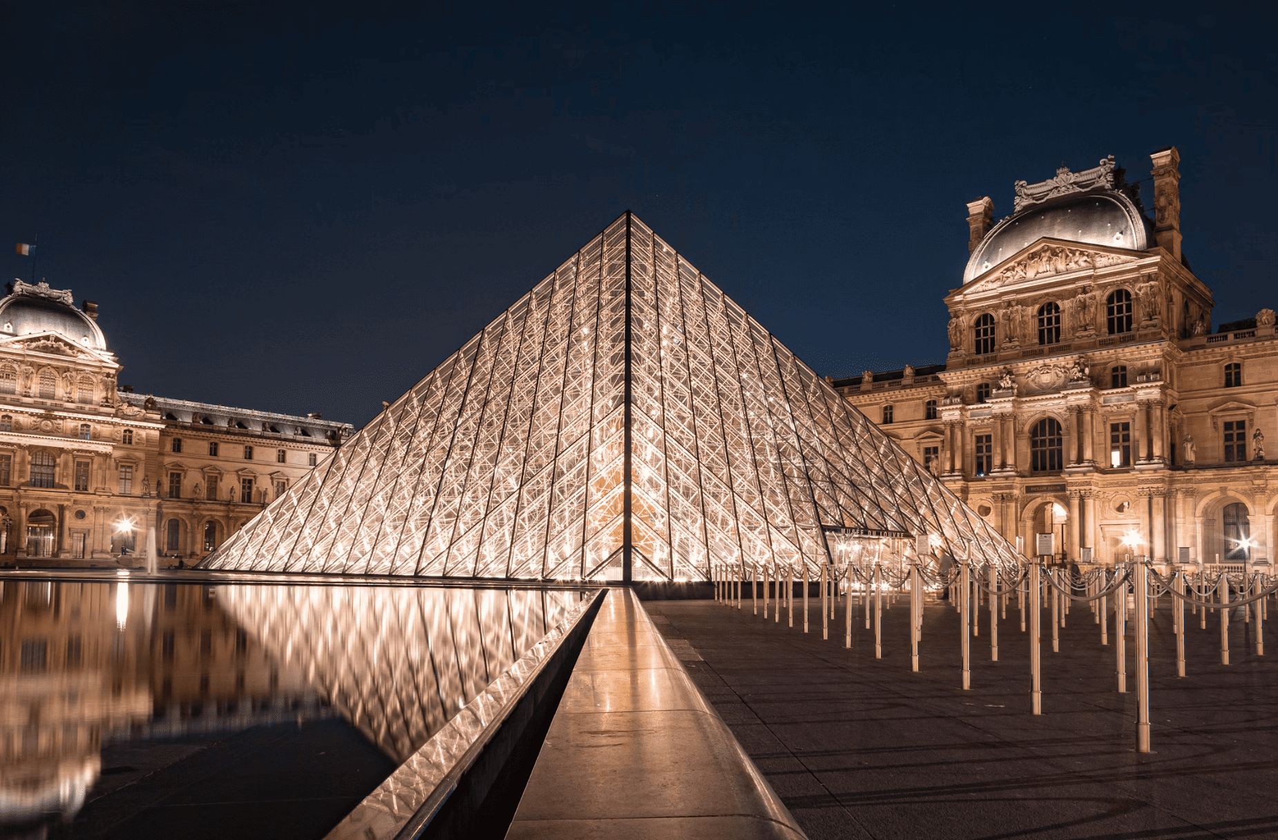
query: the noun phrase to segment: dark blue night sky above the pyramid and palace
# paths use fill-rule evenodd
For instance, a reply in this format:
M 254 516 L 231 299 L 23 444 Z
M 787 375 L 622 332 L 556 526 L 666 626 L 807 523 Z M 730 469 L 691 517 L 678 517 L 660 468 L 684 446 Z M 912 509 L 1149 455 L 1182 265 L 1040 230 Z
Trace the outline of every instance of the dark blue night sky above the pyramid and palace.
M 1167 144 L 1215 322 L 1278 307 L 1272 4 L 3 12 L 3 268 L 143 393 L 359 426 L 626 208 L 823 375 L 938 362 L 965 202 Z

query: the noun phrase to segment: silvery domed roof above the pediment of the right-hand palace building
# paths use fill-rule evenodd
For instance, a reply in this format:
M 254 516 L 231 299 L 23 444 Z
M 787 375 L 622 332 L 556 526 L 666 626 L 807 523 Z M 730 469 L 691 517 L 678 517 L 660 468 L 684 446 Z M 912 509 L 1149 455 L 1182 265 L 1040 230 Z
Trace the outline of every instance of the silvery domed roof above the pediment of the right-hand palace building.
M 1008 216 L 982 239 L 967 260 L 969 283 L 1044 237 L 1144 251 L 1149 221 L 1127 196 L 1116 191 L 1072 194 L 1026 207 Z

